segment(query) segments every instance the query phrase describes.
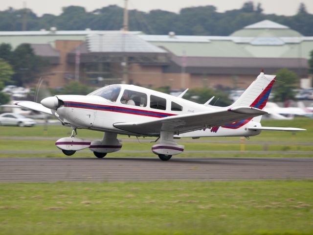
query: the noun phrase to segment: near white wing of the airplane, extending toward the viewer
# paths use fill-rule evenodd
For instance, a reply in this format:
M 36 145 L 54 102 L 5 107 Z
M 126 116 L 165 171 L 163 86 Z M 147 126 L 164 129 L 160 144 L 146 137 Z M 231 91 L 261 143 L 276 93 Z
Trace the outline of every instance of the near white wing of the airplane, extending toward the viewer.
M 141 135 L 157 136 L 160 131 L 172 131 L 184 133 L 200 130 L 211 126 L 223 126 L 231 122 L 268 114 L 265 111 L 253 107 L 235 107 L 193 114 L 184 114 L 159 118 L 147 122 L 122 122 L 113 126 L 124 131 Z

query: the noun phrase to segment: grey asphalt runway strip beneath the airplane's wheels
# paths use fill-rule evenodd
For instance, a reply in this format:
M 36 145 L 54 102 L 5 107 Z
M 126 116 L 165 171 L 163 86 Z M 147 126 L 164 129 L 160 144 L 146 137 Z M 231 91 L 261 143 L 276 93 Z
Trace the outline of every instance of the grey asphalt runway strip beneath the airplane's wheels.
M 0 182 L 313 179 L 313 158 L 0 158 Z

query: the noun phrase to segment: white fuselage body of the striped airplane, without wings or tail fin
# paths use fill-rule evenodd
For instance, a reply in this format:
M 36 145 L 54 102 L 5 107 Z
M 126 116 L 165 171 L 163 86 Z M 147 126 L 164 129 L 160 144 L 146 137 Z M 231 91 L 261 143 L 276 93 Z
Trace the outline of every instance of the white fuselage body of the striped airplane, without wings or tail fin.
M 134 86 L 134 85 L 119 85 L 121 92 L 115 102 L 105 99 L 98 95 L 56 95 L 64 102 L 64 106 L 59 107 L 57 112 L 52 112 L 62 123 L 67 126 L 90 129 L 103 132 L 114 132 L 124 135 L 140 135 L 121 130 L 114 127 L 114 123 L 120 122 L 145 122 L 158 118 L 165 118 L 169 116 L 199 113 L 204 111 L 214 111 L 216 109 L 198 104 L 183 98 L 173 95 L 156 92 L 150 89 Z M 121 96 L 124 90 L 131 90 L 147 94 L 147 104 L 145 107 L 123 104 Z M 165 110 L 154 109 L 150 107 L 150 97 L 155 95 L 166 100 Z M 75 100 L 75 101 L 74 101 Z M 171 104 L 175 102 L 182 107 L 181 111 L 171 110 Z M 256 123 L 257 124 L 257 123 Z M 250 122 L 253 125 L 253 121 Z M 238 127 L 222 126 L 218 131 L 211 131 L 210 129 L 203 129 L 200 131 L 189 132 L 201 136 L 252 136 L 260 132 L 245 129 L 244 125 Z M 178 137 L 178 136 L 177 136 Z M 181 134 L 181 137 L 187 137 L 186 134 Z M 193 136 L 191 136 L 193 137 Z

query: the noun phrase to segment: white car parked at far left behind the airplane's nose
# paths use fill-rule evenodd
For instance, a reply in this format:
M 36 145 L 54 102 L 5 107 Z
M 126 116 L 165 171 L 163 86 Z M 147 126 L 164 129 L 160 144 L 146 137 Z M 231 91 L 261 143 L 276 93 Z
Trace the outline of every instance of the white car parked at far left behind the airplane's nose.
M 36 121 L 31 118 L 25 118 L 20 114 L 4 113 L 0 115 L 0 125 L 34 126 Z

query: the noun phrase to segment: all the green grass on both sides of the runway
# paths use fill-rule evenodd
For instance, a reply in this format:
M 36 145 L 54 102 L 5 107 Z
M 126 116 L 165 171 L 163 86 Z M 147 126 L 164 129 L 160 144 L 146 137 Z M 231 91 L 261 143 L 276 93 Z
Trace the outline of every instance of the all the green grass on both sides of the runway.
M 264 126 L 291 126 L 308 131 L 262 132 L 239 151 L 240 138 L 201 138 L 179 143 L 179 157 L 313 157 L 313 119 L 264 121 Z M 103 133 L 79 130 L 80 138 Z M 70 135 L 63 126 L 0 126 L 0 157 L 67 157 L 55 140 Z M 17 140 L 6 137 L 51 137 Z M 119 138 L 127 138 L 120 136 Z M 134 137 L 131 137 L 134 139 Z M 149 138 L 148 138 L 149 139 Z M 205 141 L 237 141 L 212 143 Z M 258 142 L 271 142 L 258 143 Z M 281 144 L 279 142 L 286 142 Z M 157 157 L 153 143 L 125 141 L 110 157 Z M 43 151 L 27 153 L 27 151 Z M 57 151 L 57 152 L 54 152 Z M 203 151 L 203 152 L 199 152 Z M 281 151 L 251 154 L 248 151 Z M 301 151 L 301 155 L 282 153 Z M 89 150 L 73 157 L 94 157 Z M 0 235 L 313 235 L 313 181 L 158 181 L 0 183 Z

